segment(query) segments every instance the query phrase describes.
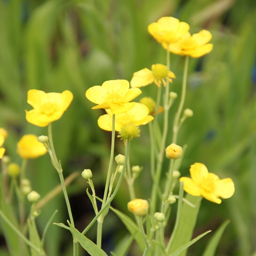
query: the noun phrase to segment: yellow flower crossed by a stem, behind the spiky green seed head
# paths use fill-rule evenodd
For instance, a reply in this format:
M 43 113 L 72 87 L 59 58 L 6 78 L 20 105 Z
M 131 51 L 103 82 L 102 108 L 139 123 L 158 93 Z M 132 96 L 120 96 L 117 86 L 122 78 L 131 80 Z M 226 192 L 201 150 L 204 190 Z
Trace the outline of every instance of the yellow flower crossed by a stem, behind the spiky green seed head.
M 107 114 L 100 116 L 98 125 L 105 131 L 112 131 L 112 116 L 113 114 L 109 109 L 106 110 Z M 115 116 L 115 130 L 120 132 L 125 124 L 134 124 L 136 126 L 148 124 L 154 119 L 153 116 L 148 115 L 149 110 L 144 104 L 135 103 L 134 107 L 122 114 Z

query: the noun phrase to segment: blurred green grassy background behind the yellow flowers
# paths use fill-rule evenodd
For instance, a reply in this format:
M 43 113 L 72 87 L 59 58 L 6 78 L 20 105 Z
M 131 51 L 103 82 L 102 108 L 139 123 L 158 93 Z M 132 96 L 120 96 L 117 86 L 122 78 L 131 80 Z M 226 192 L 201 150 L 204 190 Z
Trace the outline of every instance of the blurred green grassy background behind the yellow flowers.
M 186 120 L 179 133 L 178 144 L 188 144 L 180 172 L 187 176 L 190 164 L 201 162 L 220 178 L 232 178 L 236 188 L 234 196 L 220 205 L 202 201 L 194 236 L 216 230 L 224 220 L 230 219 L 216 255 L 256 255 L 254 0 L 1 0 L 0 127 L 9 133 L 6 154 L 12 161 L 21 163 L 16 154 L 21 136 L 47 133 L 47 128 L 36 127 L 25 119 L 24 110 L 31 109 L 27 91 L 70 90 L 74 100 L 63 117 L 53 124 L 56 153 L 65 177 L 77 170 L 92 169 L 96 193 L 101 196 L 110 133 L 97 126 L 97 118 L 103 111 L 91 110 L 93 104 L 85 98 L 85 91 L 106 80 L 130 81 L 133 72 L 155 63 L 165 64 L 164 50 L 147 32 L 148 24 L 162 16 L 188 22 L 191 33 L 207 29 L 213 36 L 212 52 L 189 63 L 185 108 L 191 108 L 194 116 Z M 171 55 L 171 70 L 177 77 L 171 90 L 178 95 L 183 64 L 182 57 Z M 156 86 L 147 86 L 142 91 L 140 97 L 155 98 Z M 170 111 L 170 125 L 177 102 Z M 148 127 L 141 127 L 141 137 L 132 141 L 131 151 L 131 164 L 144 166 L 135 182 L 137 196 L 141 198 L 150 196 L 147 134 Z M 119 153 L 124 153 L 124 147 L 117 140 L 115 154 Z M 59 183 L 48 156 L 28 165 L 27 176 L 41 196 Z M 87 187 L 78 178 L 68 188 L 75 225 L 80 231 L 94 215 L 85 192 Z M 124 182 L 112 205 L 128 214 L 128 201 Z M 62 194 L 42 209 L 37 218 L 40 230 L 55 209 L 59 212 L 54 221 L 65 222 L 68 215 Z M 108 253 L 125 234 L 125 228 L 111 212 L 103 228 L 106 237 L 103 248 Z M 88 232 L 94 241 L 95 233 L 93 228 Z M 201 255 L 210 236 L 190 247 L 187 255 Z M 8 255 L 3 237 L 0 243 L 0 255 Z M 45 249 L 48 255 L 71 255 L 70 233 L 52 225 Z

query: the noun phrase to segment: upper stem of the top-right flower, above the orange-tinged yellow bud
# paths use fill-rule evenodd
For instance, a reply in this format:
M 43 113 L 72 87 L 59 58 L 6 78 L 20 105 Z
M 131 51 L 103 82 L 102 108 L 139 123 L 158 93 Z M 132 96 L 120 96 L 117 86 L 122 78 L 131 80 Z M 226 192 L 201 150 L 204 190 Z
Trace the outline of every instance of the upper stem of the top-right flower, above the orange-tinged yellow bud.
M 180 115 L 181 115 L 181 111 L 183 109 L 185 97 L 186 97 L 187 77 L 188 77 L 188 60 L 189 60 L 189 56 L 186 56 L 184 72 L 183 72 L 183 79 L 182 79 L 182 92 L 181 92 L 180 105 L 179 105 L 177 113 L 175 115 L 173 129 L 172 129 L 172 132 L 173 132 L 172 143 L 177 142 L 177 136 L 178 136 L 178 132 L 179 132 Z

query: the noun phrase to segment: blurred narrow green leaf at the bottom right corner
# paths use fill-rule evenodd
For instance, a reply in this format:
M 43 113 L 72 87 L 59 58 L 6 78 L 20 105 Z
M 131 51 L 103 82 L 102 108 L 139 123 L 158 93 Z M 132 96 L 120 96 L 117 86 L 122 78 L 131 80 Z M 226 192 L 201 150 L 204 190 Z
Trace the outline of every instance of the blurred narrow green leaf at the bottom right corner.
M 225 228 L 228 226 L 229 222 L 230 222 L 230 220 L 225 220 L 220 225 L 220 227 L 215 231 L 211 240 L 208 242 L 202 256 L 214 256 L 215 255 L 217 246 L 220 243 L 220 238 L 221 238 Z

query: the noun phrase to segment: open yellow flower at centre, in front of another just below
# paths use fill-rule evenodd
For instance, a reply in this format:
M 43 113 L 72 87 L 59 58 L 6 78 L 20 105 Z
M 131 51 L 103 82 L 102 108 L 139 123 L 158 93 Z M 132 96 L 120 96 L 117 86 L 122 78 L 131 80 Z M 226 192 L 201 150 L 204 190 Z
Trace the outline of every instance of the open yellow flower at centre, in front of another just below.
M 129 102 L 140 95 L 138 88 L 129 89 L 126 80 L 110 80 L 89 88 L 85 96 L 88 100 L 98 104 L 92 109 L 110 109 L 112 114 L 121 114 L 134 107 L 135 102 Z

